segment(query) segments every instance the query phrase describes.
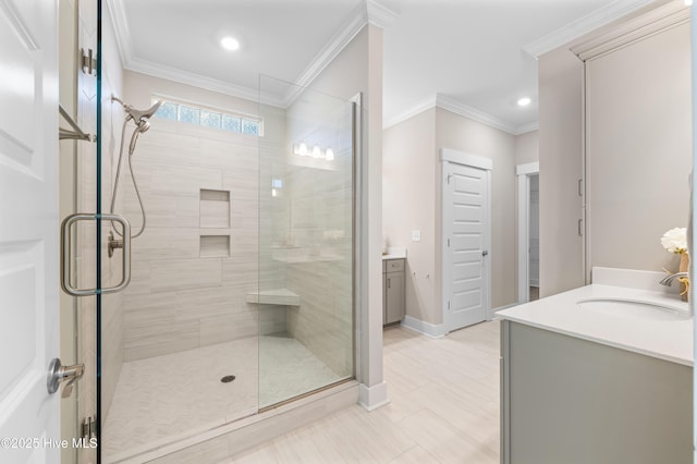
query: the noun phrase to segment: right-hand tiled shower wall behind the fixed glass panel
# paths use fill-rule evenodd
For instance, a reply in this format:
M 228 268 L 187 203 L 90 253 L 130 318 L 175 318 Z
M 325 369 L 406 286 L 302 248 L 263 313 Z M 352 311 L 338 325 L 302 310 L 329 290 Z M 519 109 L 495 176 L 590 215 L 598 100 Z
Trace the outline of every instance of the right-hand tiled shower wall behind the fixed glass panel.
M 334 160 L 348 167 L 351 155 Z M 292 170 L 292 234 L 308 245 L 306 262 L 288 266 L 288 286 L 301 297 L 289 307 L 288 332 L 340 376 L 353 374 L 352 188 L 346 172 Z

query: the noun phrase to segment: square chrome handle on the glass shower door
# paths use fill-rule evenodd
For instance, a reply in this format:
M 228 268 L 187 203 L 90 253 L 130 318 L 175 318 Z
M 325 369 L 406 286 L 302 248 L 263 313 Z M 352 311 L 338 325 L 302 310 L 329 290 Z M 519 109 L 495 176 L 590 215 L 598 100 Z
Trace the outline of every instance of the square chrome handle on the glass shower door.
M 121 270 L 121 282 L 115 286 L 106 289 L 77 289 L 70 281 L 71 258 L 72 258 L 72 225 L 77 221 L 91 221 L 101 219 L 103 221 L 119 222 L 123 227 L 123 268 Z M 98 252 L 99 253 L 99 252 Z M 88 212 L 77 212 L 66 217 L 61 224 L 61 288 L 65 293 L 73 296 L 89 296 L 103 293 L 120 292 L 129 285 L 131 281 L 131 224 L 126 218 L 119 215 L 95 215 Z

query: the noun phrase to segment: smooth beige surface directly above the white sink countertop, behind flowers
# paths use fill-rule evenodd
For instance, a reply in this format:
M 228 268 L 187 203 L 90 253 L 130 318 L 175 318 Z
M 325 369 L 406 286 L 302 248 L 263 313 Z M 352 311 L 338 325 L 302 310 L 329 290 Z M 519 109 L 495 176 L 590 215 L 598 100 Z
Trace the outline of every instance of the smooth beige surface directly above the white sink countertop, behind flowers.
M 589 267 L 677 271 L 688 221 L 689 24 L 586 62 Z

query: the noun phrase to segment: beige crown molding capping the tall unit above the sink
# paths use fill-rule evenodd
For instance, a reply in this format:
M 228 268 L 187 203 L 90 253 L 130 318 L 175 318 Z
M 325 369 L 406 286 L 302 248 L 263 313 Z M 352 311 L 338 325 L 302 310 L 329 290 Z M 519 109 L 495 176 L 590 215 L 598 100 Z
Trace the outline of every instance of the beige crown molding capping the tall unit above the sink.
M 609 53 L 617 48 L 689 22 L 689 7 L 671 2 L 629 20 L 571 48 L 582 61 Z

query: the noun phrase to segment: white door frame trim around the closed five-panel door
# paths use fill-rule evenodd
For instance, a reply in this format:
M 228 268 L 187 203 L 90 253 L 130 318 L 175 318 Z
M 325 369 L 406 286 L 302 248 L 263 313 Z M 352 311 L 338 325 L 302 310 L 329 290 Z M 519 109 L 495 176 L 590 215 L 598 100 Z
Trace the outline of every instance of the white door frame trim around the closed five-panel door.
M 467 166 L 469 168 L 480 169 L 485 171 L 487 178 L 487 206 L 485 208 L 485 236 L 484 248 L 489 251 L 488 259 L 484 269 L 484 282 L 486 288 L 481 292 L 484 296 L 482 305 L 485 309 L 485 320 L 491 320 L 493 313 L 491 309 L 491 262 L 493 251 L 491 249 L 491 173 L 493 172 L 493 160 L 478 155 L 472 155 L 464 151 L 457 151 L 451 148 L 440 149 L 441 161 L 441 179 L 440 179 L 440 229 L 441 229 L 441 310 L 443 316 L 444 332 L 455 330 L 452 327 L 452 320 L 448 312 L 448 295 L 451 293 L 452 273 L 450 271 L 450 249 L 448 248 L 448 237 L 452 233 L 449 215 L 445 205 L 445 186 L 448 185 L 448 167 L 449 163 Z

